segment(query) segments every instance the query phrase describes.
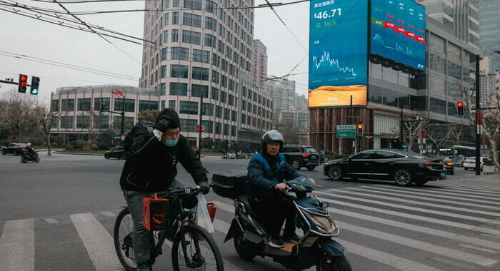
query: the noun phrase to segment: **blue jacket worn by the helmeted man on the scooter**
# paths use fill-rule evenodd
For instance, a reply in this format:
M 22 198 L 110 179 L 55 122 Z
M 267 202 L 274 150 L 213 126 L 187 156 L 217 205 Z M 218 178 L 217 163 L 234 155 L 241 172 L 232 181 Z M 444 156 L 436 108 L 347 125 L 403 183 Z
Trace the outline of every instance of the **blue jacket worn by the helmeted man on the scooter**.
M 249 162 L 246 195 L 250 198 L 271 195 L 275 191 L 276 184 L 301 176 L 286 163 L 285 156 L 281 153 L 278 155 L 275 165 L 269 165 L 264 155 L 257 153 L 251 157 Z

